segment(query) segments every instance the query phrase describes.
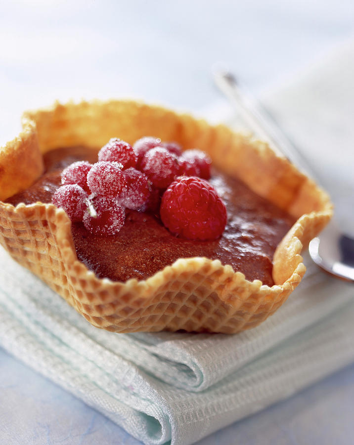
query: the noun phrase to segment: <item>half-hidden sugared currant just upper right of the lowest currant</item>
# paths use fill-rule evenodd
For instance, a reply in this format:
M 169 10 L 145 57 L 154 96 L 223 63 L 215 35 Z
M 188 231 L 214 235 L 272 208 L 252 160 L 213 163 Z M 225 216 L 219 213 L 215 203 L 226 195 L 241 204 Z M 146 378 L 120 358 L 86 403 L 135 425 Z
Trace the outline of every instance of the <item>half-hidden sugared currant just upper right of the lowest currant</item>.
M 121 203 L 131 210 L 140 209 L 150 197 L 150 181 L 138 170 L 127 169 L 123 172 L 127 181 L 127 190 L 123 192 Z

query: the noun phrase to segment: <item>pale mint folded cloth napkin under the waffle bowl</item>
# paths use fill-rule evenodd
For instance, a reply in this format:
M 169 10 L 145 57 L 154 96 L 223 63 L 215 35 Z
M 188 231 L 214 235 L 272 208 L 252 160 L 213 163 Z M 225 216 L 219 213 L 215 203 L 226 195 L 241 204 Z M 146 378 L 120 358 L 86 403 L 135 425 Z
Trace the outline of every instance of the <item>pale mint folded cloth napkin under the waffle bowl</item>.
M 353 46 L 339 59 L 349 55 Z M 304 91 L 306 122 L 313 118 L 307 92 L 331 83 L 332 64 L 293 87 L 297 97 Z M 348 82 L 353 58 L 351 69 Z M 339 79 L 336 85 L 342 85 Z M 349 92 L 352 97 L 341 99 L 353 103 L 353 88 Z M 281 100 L 269 103 L 279 114 L 282 106 L 291 109 Z M 336 101 L 326 106 L 339 113 Z M 294 117 L 285 116 L 288 122 Z M 346 125 L 352 126 L 348 116 Z M 318 132 L 318 146 L 328 146 L 328 132 L 330 125 Z M 348 132 L 337 134 L 338 146 L 348 146 Z M 192 444 L 354 361 L 354 287 L 325 275 L 308 258 L 306 263 L 298 289 L 255 329 L 232 336 L 114 334 L 91 326 L 0 250 L 0 345 L 142 442 Z

